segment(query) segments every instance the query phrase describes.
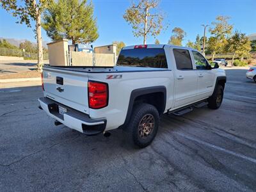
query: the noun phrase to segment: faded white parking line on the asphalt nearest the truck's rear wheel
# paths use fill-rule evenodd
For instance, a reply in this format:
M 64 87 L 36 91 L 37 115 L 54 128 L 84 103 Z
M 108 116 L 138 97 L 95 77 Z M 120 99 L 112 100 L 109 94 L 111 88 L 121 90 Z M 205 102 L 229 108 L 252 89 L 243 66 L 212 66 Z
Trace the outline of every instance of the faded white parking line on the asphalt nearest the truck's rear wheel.
M 207 147 L 215 148 L 217 150 L 221 150 L 223 152 L 226 152 L 227 154 L 231 154 L 233 156 L 240 157 L 242 159 L 246 159 L 247 161 L 251 161 L 252 163 L 256 163 L 256 159 L 253 159 L 252 157 L 244 156 L 243 154 L 237 154 L 236 152 L 233 152 L 231 150 L 227 150 L 225 148 L 218 147 L 216 145 L 212 145 L 211 143 L 207 143 L 205 141 L 201 141 L 201 140 L 198 140 L 196 138 L 192 138 L 191 136 L 188 136 L 188 135 L 183 134 L 181 132 L 175 132 L 175 133 L 178 134 L 179 136 L 182 136 L 183 138 L 186 138 L 186 139 L 191 140 L 191 141 L 195 141 L 196 143 L 200 143 L 200 144 L 205 145 Z

